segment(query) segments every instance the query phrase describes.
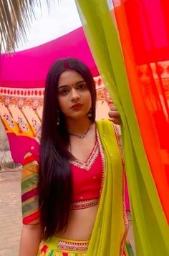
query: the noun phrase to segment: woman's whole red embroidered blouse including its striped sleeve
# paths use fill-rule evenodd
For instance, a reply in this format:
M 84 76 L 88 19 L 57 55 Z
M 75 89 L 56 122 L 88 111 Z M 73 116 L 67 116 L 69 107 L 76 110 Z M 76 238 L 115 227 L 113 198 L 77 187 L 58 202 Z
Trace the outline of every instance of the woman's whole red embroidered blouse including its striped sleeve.
M 72 168 L 72 209 L 84 209 L 99 203 L 102 189 L 104 154 L 97 134 L 95 146 L 86 162 L 70 161 Z M 39 223 L 38 204 L 39 146 L 26 153 L 21 179 L 21 201 L 24 224 Z

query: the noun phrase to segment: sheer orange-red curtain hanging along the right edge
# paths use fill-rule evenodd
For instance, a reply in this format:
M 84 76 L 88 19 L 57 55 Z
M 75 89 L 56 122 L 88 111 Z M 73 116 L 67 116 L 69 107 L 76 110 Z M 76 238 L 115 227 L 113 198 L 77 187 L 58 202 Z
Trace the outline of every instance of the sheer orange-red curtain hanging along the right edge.
M 112 2 L 141 136 L 169 222 L 169 1 Z

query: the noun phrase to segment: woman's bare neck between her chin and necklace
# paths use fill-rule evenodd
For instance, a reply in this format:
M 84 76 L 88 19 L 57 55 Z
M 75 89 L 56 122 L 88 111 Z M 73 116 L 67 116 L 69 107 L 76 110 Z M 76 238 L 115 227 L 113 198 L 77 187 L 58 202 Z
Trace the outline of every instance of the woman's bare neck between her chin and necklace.
M 75 133 L 75 134 L 83 134 L 87 131 L 87 129 L 91 125 L 91 121 L 89 118 L 78 118 L 78 119 L 69 119 L 67 118 L 67 130 L 69 133 Z

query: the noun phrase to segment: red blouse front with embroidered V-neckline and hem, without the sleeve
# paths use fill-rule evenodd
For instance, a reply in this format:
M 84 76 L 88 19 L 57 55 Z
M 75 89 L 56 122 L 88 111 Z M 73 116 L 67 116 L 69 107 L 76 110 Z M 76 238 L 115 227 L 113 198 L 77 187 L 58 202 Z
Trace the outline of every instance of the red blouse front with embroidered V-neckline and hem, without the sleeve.
M 84 209 L 98 204 L 102 186 L 104 158 L 100 138 L 87 161 L 69 161 L 72 169 L 72 209 Z

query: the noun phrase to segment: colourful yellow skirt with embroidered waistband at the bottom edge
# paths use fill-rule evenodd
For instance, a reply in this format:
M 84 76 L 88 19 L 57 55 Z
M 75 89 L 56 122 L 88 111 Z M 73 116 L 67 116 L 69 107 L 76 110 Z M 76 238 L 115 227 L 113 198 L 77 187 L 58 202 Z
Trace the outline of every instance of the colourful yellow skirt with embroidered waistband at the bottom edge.
M 88 245 L 89 241 L 66 240 L 53 236 L 41 242 L 37 256 L 86 256 Z M 130 243 L 126 242 L 122 256 L 133 256 Z

